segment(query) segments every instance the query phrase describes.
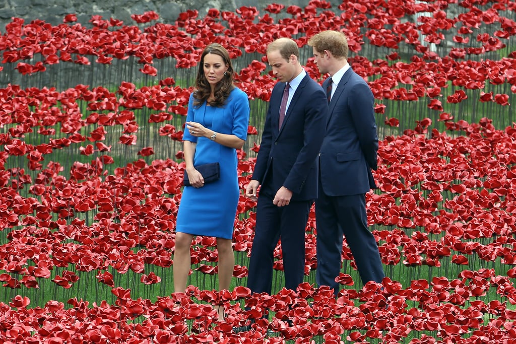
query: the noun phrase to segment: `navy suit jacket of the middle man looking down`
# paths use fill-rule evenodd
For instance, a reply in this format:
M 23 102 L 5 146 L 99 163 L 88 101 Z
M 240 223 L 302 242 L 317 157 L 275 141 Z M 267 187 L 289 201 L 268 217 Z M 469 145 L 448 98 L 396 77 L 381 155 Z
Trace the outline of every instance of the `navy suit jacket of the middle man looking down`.
M 328 116 L 326 92 L 305 75 L 280 129 L 279 109 L 285 85 L 277 83 L 272 89 L 252 179 L 260 182 L 261 190 L 274 192 L 272 196 L 284 186 L 293 192 L 292 201 L 313 200 L 317 198 L 317 157 Z

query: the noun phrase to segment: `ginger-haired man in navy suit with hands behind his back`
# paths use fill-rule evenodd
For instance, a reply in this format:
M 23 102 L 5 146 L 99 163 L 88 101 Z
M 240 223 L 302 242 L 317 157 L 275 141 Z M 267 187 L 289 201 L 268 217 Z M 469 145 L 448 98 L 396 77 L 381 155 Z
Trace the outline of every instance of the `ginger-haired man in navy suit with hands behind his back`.
M 378 245 L 367 227 L 365 194 L 376 188 L 371 170 L 377 169 L 378 136 L 374 97 L 364 79 L 347 62 L 346 36 L 322 31 L 311 37 L 314 62 L 327 90 L 329 112 L 319 154 L 319 195 L 315 201 L 319 286 L 333 288 L 341 271 L 343 235 L 362 282 L 380 283 L 384 272 Z

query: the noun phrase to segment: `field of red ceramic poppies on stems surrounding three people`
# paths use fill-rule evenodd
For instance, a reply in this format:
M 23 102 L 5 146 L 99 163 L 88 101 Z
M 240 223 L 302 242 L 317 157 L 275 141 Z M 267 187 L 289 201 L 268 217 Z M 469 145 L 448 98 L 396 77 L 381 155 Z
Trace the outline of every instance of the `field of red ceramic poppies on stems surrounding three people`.
M 132 19 L 0 28 L 2 342 L 516 342 L 516 3 L 313 0 Z M 388 277 L 361 285 L 345 244 L 340 297 L 317 288 L 312 212 L 305 283 L 282 288 L 278 247 L 274 293 L 251 294 L 255 204 L 242 196 L 232 290 L 216 291 L 215 240 L 198 237 L 192 285 L 173 293 L 181 138 L 202 48 L 227 47 L 249 95 L 244 188 L 275 83 L 267 44 L 294 38 L 322 81 L 306 42 L 325 29 L 345 32 L 375 95 L 368 220 Z M 252 330 L 235 333 L 246 319 Z

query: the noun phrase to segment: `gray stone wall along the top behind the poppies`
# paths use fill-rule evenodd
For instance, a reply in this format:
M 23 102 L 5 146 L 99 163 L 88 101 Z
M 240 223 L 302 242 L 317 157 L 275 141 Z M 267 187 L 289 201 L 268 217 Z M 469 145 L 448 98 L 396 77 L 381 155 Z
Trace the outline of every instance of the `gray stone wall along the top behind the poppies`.
M 91 15 L 95 14 L 102 15 L 104 19 L 122 20 L 130 25 L 135 23 L 131 19 L 131 14 L 155 11 L 159 14 L 159 22 L 174 23 L 178 15 L 188 9 L 197 9 L 202 18 L 210 8 L 235 11 L 241 6 L 253 6 L 263 15 L 263 9 L 268 4 L 280 2 L 285 7 L 304 7 L 308 5 L 309 0 L 0 0 L 0 33 L 5 32 L 5 25 L 12 17 L 22 18 L 25 23 L 40 19 L 57 25 L 63 22 L 65 15 L 75 13 L 77 22 L 85 25 L 91 19 Z M 332 0 L 330 3 L 340 2 Z

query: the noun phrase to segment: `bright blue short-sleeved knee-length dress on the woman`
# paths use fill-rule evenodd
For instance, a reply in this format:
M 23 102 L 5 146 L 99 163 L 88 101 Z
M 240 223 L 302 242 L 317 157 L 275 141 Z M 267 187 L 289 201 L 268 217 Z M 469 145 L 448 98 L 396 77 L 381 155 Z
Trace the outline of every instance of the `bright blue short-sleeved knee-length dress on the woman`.
M 236 87 L 223 107 L 206 106 L 206 102 L 195 107 L 192 93 L 186 121 L 199 122 L 214 132 L 232 134 L 246 140 L 249 112 L 247 94 Z M 183 140 L 197 142 L 194 166 L 207 162 L 220 163 L 220 179 L 201 188 L 184 187 L 176 232 L 232 239 L 240 198 L 236 150 L 206 137 L 194 137 L 186 129 Z

